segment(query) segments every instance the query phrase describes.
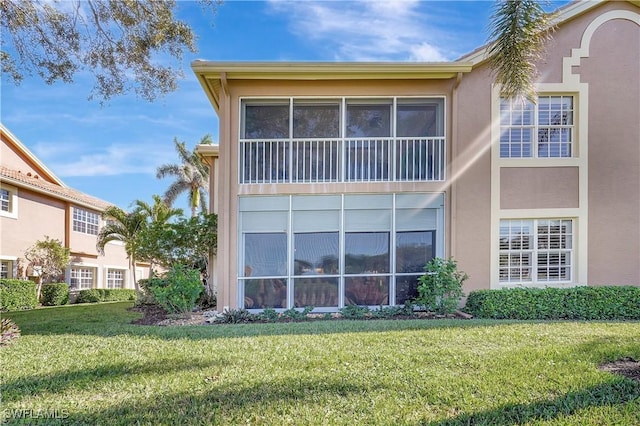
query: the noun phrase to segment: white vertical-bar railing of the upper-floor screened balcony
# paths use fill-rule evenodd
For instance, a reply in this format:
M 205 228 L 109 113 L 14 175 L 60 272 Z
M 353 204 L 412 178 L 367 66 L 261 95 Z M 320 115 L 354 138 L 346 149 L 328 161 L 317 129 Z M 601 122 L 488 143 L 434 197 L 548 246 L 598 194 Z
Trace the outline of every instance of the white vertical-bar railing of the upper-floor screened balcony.
M 240 141 L 243 184 L 444 179 L 443 137 Z

